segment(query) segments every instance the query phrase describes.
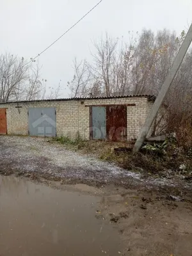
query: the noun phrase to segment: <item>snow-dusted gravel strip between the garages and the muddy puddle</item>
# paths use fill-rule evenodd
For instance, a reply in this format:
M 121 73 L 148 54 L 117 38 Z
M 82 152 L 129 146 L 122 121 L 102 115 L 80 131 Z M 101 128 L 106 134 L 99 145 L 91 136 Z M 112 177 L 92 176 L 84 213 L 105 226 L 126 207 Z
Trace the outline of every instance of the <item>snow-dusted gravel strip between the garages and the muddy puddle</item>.
M 173 180 L 143 179 L 140 173 L 124 170 L 95 157 L 81 156 L 63 145 L 47 142 L 46 138 L 0 136 L 1 169 L 26 173 L 44 173 L 61 179 L 118 184 L 174 186 Z

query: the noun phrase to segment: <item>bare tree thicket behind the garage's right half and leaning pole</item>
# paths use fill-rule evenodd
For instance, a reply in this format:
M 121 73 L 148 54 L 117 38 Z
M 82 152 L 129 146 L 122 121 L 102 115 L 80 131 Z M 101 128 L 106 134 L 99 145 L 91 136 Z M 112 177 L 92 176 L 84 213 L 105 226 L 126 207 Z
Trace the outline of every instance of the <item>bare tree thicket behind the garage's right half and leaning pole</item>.
M 95 51 L 90 63 L 74 61 L 74 79 L 68 83 L 72 95 L 157 95 L 185 35 L 185 31 L 177 36 L 167 29 L 157 33 L 143 29 L 135 38 L 131 36 L 129 42 L 124 42 L 106 33 L 104 38 L 94 43 Z M 179 131 L 179 120 L 183 124 L 183 134 L 187 130 L 191 132 L 191 102 L 192 49 L 189 49 L 164 100 L 167 122 L 160 118 L 155 127 L 160 125 L 161 132 L 163 129 Z

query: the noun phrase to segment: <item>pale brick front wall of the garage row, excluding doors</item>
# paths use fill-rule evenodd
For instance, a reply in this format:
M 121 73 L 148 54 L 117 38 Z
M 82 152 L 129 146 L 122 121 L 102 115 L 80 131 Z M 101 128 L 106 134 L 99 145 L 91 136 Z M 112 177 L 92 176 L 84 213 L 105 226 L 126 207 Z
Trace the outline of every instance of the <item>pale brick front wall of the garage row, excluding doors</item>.
M 153 104 L 149 95 L 86 99 L 56 99 L 0 103 L 6 109 L 7 134 L 29 134 L 28 111 L 33 108 L 54 108 L 56 136 L 90 140 L 92 106 L 126 106 L 127 140 L 136 138 Z

